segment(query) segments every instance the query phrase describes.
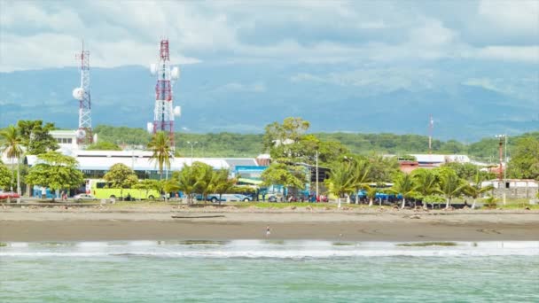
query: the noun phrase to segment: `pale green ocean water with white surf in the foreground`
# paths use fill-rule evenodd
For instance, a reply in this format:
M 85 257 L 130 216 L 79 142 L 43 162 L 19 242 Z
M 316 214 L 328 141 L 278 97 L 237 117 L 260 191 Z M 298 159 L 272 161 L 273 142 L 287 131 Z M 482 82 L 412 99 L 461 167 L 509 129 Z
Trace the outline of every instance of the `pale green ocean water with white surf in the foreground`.
M 539 302 L 539 242 L 7 243 L 0 302 Z

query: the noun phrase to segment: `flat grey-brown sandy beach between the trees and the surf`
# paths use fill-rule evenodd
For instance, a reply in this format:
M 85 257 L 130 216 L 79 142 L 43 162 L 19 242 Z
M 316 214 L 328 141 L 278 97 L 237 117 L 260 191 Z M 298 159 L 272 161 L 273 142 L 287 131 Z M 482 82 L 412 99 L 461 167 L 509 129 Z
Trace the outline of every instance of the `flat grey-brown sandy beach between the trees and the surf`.
M 536 241 L 539 212 L 174 206 L 0 210 L 0 242 L 262 239 L 267 227 L 273 239 Z

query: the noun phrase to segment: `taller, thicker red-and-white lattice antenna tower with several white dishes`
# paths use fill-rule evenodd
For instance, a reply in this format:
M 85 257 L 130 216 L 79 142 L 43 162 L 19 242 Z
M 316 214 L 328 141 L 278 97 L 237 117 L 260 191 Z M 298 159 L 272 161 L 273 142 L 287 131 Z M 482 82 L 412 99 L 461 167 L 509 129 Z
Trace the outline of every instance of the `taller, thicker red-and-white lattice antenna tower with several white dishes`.
M 153 123 L 148 123 L 148 132 L 155 134 L 158 131 L 168 133 L 170 146 L 174 148 L 174 117 L 180 115 L 180 106 L 173 106 L 172 85 L 179 78 L 178 67 L 171 68 L 168 39 L 160 41 L 160 56 L 157 65 L 150 66 L 152 74 L 157 74 L 155 85 L 155 107 L 153 109 Z

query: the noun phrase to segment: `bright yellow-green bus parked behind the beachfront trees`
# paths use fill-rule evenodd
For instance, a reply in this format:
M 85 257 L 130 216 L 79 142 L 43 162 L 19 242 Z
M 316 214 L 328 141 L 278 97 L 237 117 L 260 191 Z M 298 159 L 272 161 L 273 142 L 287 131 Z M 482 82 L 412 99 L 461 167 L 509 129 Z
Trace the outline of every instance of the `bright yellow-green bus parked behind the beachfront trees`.
M 105 180 L 90 179 L 86 182 L 87 192 L 96 198 L 131 198 L 136 200 L 160 198 L 160 193 L 157 190 L 139 190 L 139 189 L 115 189 L 111 187 L 111 183 Z

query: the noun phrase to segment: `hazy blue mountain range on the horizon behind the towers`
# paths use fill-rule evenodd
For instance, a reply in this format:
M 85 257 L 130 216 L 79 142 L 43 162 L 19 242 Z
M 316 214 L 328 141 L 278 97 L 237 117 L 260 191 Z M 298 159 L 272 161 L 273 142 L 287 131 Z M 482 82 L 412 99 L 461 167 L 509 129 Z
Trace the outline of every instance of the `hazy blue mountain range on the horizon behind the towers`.
M 426 135 L 430 113 L 434 136 L 441 139 L 469 142 L 539 129 L 539 97 L 510 97 L 459 82 L 345 85 L 316 74 L 309 65 L 182 66 L 174 87 L 183 112 L 176 131 L 262 133 L 272 121 L 301 116 L 315 132 Z M 0 128 L 20 119 L 75 128 L 78 105 L 71 91 L 79 82 L 76 68 L 0 73 Z M 154 85 L 142 66 L 91 69 L 93 124 L 145 128 L 153 118 Z

